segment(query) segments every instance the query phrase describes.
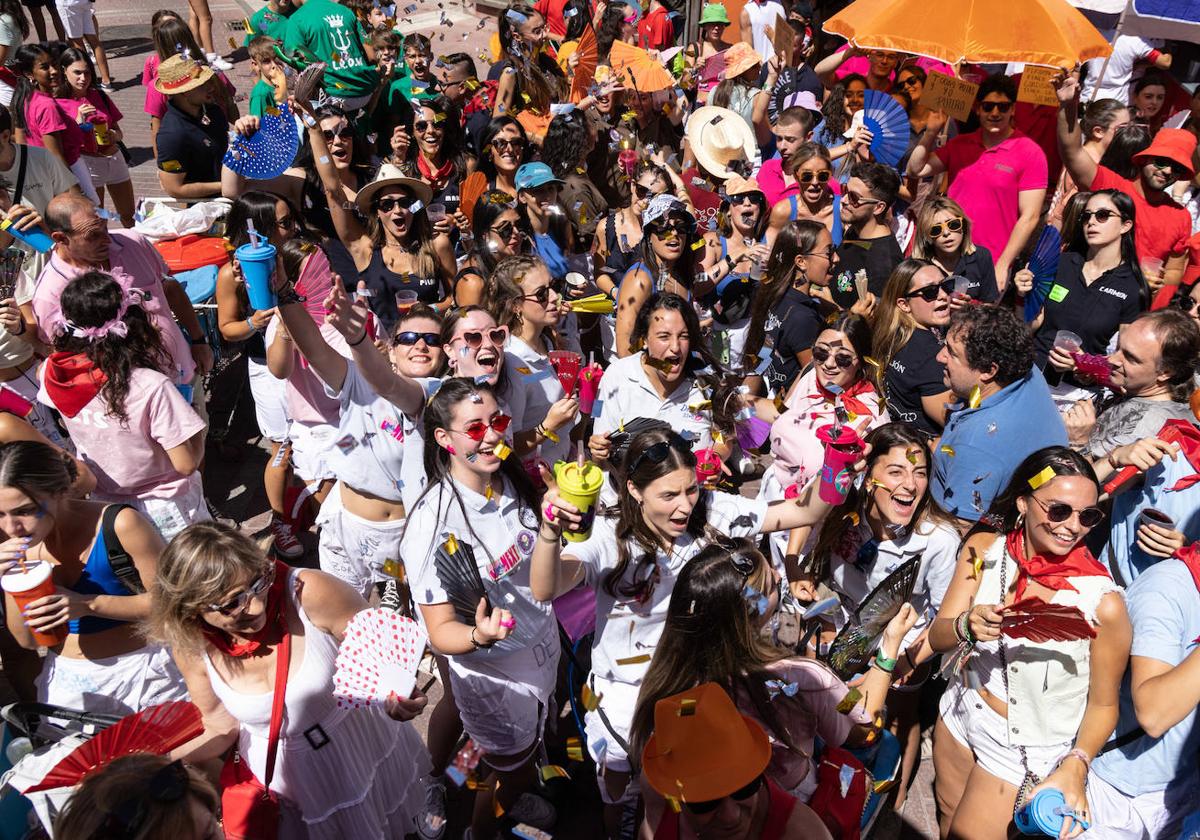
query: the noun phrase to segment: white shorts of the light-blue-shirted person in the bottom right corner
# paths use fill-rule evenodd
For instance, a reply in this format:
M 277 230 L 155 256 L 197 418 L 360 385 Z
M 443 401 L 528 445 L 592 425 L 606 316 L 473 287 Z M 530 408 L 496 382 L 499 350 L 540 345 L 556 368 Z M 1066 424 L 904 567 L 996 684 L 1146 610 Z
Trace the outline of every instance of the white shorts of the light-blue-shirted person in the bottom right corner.
M 1176 838 L 1183 820 L 1196 808 L 1200 776 L 1175 779 L 1162 791 L 1130 797 L 1096 773 L 1087 776 L 1087 805 L 1092 827 L 1087 840 L 1158 840 Z

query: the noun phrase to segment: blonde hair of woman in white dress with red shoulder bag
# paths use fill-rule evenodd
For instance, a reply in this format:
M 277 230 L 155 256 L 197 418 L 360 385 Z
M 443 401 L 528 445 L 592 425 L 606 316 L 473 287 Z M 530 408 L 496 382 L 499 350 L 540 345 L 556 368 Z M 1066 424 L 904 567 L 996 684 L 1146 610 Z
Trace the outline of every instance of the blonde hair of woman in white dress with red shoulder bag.
M 258 577 L 268 564 L 246 534 L 216 522 L 188 526 L 158 559 L 145 636 L 185 653 L 200 650 L 205 605 Z

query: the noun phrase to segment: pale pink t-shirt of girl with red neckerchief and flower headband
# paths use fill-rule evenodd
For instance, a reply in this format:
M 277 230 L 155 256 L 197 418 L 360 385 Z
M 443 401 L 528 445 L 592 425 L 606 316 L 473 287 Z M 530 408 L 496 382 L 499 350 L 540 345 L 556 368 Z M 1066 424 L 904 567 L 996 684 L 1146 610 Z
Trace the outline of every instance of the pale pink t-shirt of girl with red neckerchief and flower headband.
M 37 398 L 54 406 L 44 384 Z M 204 421 L 170 379 L 158 371 L 136 367 L 130 374 L 125 413 L 127 426 L 108 413 L 101 391 L 73 418 L 62 415 L 79 458 L 96 474 L 98 494 L 173 499 L 193 480 L 199 481 L 199 473 L 180 475 L 167 455 L 168 449 L 204 430 Z

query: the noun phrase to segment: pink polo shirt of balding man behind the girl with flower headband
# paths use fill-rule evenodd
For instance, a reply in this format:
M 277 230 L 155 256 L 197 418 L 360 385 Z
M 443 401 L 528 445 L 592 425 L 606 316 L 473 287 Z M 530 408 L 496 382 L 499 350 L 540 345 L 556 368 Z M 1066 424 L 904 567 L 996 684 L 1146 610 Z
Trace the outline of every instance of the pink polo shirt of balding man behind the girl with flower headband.
M 167 302 L 167 292 L 162 286 L 163 277 L 170 276 L 170 269 L 142 234 L 132 230 L 109 230 L 108 235 L 112 244 L 108 248 L 109 268 L 106 274 L 127 288 L 139 289 L 150 295 L 143 307 L 150 317 L 150 323 L 158 328 L 163 348 L 170 355 L 173 382 L 186 385 L 196 373 L 196 361 L 192 359 L 192 348 L 184 337 L 182 328 L 175 323 L 170 304 Z M 59 332 L 59 325 L 62 324 L 62 308 L 59 306 L 62 289 L 86 270 L 65 263 L 56 248 L 50 254 L 34 290 L 34 314 L 37 317 L 37 336 L 42 341 L 52 342 Z

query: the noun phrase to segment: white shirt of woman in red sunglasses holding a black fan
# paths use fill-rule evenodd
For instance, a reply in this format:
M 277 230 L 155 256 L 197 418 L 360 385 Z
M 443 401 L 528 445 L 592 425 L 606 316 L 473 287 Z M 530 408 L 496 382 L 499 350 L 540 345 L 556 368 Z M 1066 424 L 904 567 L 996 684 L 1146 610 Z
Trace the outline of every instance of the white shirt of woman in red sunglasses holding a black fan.
M 418 604 L 450 600 L 434 565 L 437 548 L 450 534 L 474 550 L 492 607 L 516 619 L 512 634 L 491 648 L 448 656 L 450 670 L 463 679 L 508 685 L 545 701 L 558 677 L 558 623 L 551 605 L 534 600 L 529 590 L 538 511 L 518 503 L 508 481 L 491 499 L 450 478 L 432 486 L 408 511 L 400 544 Z

